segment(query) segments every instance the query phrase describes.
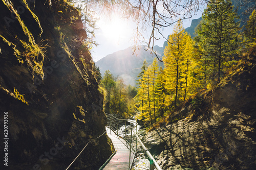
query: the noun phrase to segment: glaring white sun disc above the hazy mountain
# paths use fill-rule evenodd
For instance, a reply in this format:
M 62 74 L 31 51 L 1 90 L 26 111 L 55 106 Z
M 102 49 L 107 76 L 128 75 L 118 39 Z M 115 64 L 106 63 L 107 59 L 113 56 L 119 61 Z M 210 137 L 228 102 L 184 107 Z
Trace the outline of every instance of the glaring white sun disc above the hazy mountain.
M 125 41 L 132 34 L 131 23 L 118 14 L 103 16 L 98 21 L 102 35 L 114 44 Z

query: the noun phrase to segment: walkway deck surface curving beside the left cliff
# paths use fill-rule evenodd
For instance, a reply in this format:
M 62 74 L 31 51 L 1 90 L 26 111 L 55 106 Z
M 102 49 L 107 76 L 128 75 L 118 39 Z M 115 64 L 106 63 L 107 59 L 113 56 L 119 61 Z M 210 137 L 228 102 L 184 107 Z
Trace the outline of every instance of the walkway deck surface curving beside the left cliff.
M 112 143 L 116 150 L 116 154 L 112 157 L 109 163 L 106 164 L 103 170 L 110 170 L 110 169 L 129 170 L 130 150 L 124 144 L 126 143 L 125 140 L 123 140 L 122 138 L 118 138 L 117 135 L 109 128 L 106 128 L 106 132 L 112 140 Z M 132 151 L 130 166 L 132 165 L 134 158 L 135 158 L 135 154 Z

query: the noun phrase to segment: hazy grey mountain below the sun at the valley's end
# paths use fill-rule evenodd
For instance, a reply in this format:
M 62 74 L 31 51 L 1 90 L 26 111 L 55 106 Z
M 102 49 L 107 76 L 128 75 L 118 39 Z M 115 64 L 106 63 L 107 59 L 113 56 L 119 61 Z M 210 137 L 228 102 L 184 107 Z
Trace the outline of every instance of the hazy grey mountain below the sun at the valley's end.
M 122 77 L 125 84 L 136 86 L 137 76 L 141 71 L 144 59 L 146 59 L 148 63 L 147 65 L 150 65 L 156 57 L 154 53 L 151 53 L 150 50 L 146 49 L 146 46 L 140 46 L 140 50 L 137 50 L 133 54 L 132 47 L 129 47 L 113 54 L 109 54 L 95 64 L 100 68 L 102 76 L 104 75 L 105 70 L 110 70 L 111 74 L 114 76 Z M 153 49 L 156 51 L 159 58 L 163 56 L 163 47 L 156 45 Z M 158 64 L 163 67 L 163 62 L 159 61 Z

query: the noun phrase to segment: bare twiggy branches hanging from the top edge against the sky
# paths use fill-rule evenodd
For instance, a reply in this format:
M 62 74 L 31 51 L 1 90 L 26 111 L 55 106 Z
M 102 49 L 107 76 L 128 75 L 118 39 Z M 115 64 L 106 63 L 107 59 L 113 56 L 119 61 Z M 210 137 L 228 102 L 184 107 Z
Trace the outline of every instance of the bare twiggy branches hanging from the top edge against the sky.
M 209 1 L 214 0 L 70 0 L 72 2 L 81 2 L 86 4 L 86 8 L 92 8 L 91 11 L 100 9 L 104 13 L 118 11 L 125 18 L 133 18 L 137 24 L 134 37 L 135 46 L 144 42 L 145 31 L 151 32 L 148 35 L 148 48 L 153 51 L 154 41 L 159 33 L 163 38 L 160 28 L 172 26 L 179 19 L 191 18 Z M 249 0 L 240 0 L 249 1 Z M 251 0 L 256 1 L 256 0 Z M 90 10 L 88 10 L 90 11 Z M 87 11 L 87 13 L 88 13 Z M 89 19 L 89 18 L 88 18 Z M 165 38 L 166 39 L 166 38 Z M 166 39 L 167 40 L 167 39 Z M 136 49 L 136 47 L 134 48 Z M 154 53 L 154 51 L 153 51 Z M 156 55 L 157 56 L 157 55 Z M 159 57 L 157 56 L 159 59 Z M 160 60 L 160 59 L 159 59 Z M 161 61 L 161 60 L 160 60 Z

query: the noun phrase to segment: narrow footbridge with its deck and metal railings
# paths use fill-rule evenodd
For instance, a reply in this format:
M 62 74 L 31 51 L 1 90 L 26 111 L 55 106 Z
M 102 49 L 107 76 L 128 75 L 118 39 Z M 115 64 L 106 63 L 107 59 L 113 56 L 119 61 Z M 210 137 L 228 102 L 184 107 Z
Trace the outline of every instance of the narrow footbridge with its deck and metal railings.
M 106 117 L 108 118 L 108 127 L 106 127 L 106 132 L 112 140 L 115 152 L 99 170 L 130 170 L 132 168 L 133 161 L 137 156 L 138 147 L 141 147 L 144 150 L 150 160 L 150 170 L 162 170 L 151 155 L 150 151 L 148 151 L 138 137 L 138 124 L 135 120 L 120 119 L 112 114 L 106 114 Z M 133 128 L 126 129 L 127 125 L 131 124 L 133 125 Z M 124 133 L 121 133 L 121 129 L 124 130 Z

